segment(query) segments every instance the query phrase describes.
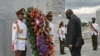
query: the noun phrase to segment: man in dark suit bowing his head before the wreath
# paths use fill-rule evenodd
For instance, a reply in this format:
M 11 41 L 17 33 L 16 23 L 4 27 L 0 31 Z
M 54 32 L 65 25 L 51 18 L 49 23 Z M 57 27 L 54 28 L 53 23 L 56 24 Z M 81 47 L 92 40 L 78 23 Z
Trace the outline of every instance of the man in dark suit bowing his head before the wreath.
M 81 21 L 73 14 L 71 9 L 66 11 L 66 17 L 69 19 L 67 28 L 69 50 L 72 56 L 81 56 L 81 47 L 84 44 L 81 32 Z

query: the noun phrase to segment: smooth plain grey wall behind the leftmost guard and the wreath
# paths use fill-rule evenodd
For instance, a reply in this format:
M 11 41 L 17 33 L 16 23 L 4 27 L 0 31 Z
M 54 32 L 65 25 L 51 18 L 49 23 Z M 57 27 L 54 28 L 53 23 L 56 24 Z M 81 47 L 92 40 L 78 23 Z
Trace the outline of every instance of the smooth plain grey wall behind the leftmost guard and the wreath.
M 46 13 L 45 0 L 0 0 L 0 56 L 14 56 L 11 49 L 11 27 L 17 19 L 15 12 L 21 8 L 37 7 Z M 32 56 L 28 41 L 27 56 Z

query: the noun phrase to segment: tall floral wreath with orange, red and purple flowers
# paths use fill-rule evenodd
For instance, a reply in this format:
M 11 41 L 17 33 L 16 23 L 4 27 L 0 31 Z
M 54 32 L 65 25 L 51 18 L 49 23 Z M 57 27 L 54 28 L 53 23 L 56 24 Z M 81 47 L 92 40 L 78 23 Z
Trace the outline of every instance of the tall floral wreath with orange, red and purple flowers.
M 35 56 L 49 56 L 54 45 L 49 35 L 46 34 L 50 31 L 48 20 L 37 8 L 29 7 L 25 14 L 32 54 Z

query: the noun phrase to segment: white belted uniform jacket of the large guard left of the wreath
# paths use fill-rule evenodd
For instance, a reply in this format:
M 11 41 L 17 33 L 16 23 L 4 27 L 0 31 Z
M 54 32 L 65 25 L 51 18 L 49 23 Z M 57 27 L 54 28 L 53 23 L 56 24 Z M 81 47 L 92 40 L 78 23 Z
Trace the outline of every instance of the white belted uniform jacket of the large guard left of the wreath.
M 26 47 L 26 39 L 27 38 L 27 27 L 24 22 L 17 20 L 17 24 L 20 29 L 22 29 L 22 33 L 18 33 L 16 23 L 12 25 L 12 44 L 13 50 L 25 50 Z M 22 38 L 22 39 L 18 39 Z

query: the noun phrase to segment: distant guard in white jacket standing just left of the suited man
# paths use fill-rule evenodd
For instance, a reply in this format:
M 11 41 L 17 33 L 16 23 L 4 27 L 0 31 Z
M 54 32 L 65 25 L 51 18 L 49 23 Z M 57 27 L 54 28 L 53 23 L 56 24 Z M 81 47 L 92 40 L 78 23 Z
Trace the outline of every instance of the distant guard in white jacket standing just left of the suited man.
M 66 54 L 64 52 L 65 33 L 66 33 L 66 28 L 64 27 L 63 21 L 61 21 L 60 24 L 59 24 L 59 28 L 58 28 L 59 42 L 60 42 L 60 53 L 61 54 Z

